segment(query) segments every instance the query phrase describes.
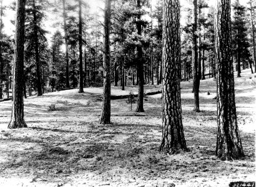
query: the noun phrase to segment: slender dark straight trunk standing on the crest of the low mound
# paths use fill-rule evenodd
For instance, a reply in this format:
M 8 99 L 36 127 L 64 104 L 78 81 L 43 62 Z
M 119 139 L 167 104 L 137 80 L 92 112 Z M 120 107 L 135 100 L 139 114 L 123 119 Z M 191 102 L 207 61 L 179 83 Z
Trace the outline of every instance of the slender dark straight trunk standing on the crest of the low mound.
M 84 92 L 84 77 L 82 72 L 82 2 L 79 0 L 79 93 Z

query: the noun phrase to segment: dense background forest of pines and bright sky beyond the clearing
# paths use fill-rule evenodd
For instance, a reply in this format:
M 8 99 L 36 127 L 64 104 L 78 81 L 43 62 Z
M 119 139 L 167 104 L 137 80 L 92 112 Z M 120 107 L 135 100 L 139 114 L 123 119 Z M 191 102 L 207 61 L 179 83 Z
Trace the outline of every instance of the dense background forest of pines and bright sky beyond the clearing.
M 4 1 L 3 1 L 4 2 Z M 8 1 L 9 2 L 9 1 Z M 4 2 L 4 4 L 8 4 Z M 140 10 L 133 1 L 112 1 L 111 16 L 111 84 L 137 85 L 137 46 L 142 46 L 145 84 L 162 81 L 162 5 L 160 1 L 142 1 Z M 255 2 L 232 1 L 232 48 L 234 67 L 255 71 Z M 97 3 L 98 6 L 102 2 Z M 192 78 L 192 2 L 181 7 L 182 56 L 180 78 Z M 102 10 L 82 1 L 82 71 L 79 71 L 78 1 L 28 1 L 26 6 L 26 54 L 24 96 L 41 95 L 64 88 L 79 87 L 82 73 L 84 87 L 102 86 L 103 41 Z M 11 95 L 13 54 L 9 27 L 14 4 L 1 4 L 1 84 L 0 99 Z M 215 76 L 214 7 L 198 2 L 199 79 Z M 142 32 L 136 29 L 140 15 Z M 14 19 L 14 17 L 13 17 Z M 52 20 L 54 19 L 54 20 Z M 4 21 L 3 21 L 4 20 Z M 12 21 L 13 23 L 13 21 Z M 8 31 L 8 32 L 5 32 Z M 254 41 L 254 42 L 253 42 Z

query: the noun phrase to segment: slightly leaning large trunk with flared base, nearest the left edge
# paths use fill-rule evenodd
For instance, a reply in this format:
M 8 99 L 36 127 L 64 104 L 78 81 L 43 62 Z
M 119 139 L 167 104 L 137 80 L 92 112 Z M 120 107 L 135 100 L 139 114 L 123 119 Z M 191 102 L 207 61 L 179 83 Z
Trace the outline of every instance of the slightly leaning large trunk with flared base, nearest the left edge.
M 16 31 L 13 65 L 13 93 L 11 122 L 8 128 L 27 127 L 24 121 L 23 104 L 23 69 L 24 69 L 24 22 L 26 0 L 17 0 L 16 4 Z

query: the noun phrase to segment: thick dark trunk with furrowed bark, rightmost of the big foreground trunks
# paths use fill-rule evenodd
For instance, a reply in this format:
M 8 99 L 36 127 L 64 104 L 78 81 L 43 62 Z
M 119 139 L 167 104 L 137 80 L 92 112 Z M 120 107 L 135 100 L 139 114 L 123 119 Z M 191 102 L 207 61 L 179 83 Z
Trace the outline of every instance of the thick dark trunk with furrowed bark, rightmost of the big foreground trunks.
M 217 0 L 215 14 L 218 125 L 216 156 L 221 160 L 234 160 L 244 156 L 244 151 L 235 108 L 230 0 Z

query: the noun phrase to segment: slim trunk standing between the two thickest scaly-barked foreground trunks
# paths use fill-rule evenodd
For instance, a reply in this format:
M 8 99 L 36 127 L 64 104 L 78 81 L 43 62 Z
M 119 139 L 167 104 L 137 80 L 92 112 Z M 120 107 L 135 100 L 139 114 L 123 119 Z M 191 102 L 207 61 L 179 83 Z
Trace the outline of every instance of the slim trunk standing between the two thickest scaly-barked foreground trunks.
M 193 47 L 192 47 L 192 53 L 193 53 L 193 92 L 194 92 L 194 110 L 195 112 L 200 112 L 199 109 L 199 70 L 198 70 L 198 59 L 197 59 L 197 0 L 193 1 L 194 3 L 194 11 L 193 11 L 193 17 L 194 17 L 194 24 L 193 24 Z

